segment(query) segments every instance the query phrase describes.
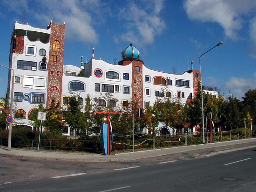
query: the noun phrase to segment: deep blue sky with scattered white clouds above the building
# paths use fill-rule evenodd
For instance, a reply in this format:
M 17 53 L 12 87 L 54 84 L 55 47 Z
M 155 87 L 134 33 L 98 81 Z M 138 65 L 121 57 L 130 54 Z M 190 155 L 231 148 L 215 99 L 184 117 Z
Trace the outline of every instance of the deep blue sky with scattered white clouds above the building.
M 14 23 L 47 28 L 50 20 L 66 23 L 64 64 L 80 66 L 92 57 L 120 61 L 132 43 L 153 70 L 182 74 L 199 70 L 202 82 L 242 100 L 256 88 L 255 0 L 2 0 L 0 64 L 8 66 Z M 26 13 L 25 20 L 23 12 Z M 0 70 L 0 97 L 5 97 L 8 69 Z

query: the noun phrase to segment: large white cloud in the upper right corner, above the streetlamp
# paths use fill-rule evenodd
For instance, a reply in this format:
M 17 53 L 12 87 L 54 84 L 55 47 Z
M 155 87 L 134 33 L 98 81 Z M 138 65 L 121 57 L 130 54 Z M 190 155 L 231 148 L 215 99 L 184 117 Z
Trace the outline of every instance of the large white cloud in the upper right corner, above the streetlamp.
M 250 15 L 256 9 L 255 0 L 186 0 L 184 8 L 190 19 L 203 22 L 217 22 L 226 36 L 239 38 L 238 31 L 243 28 L 243 15 Z

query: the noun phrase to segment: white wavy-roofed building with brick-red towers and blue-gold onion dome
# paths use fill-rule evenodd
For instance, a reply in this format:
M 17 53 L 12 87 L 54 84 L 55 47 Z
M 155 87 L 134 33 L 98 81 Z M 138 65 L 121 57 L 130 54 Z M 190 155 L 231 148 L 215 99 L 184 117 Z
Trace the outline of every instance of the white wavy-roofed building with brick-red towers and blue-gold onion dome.
M 69 91 L 80 93 L 81 105 L 86 97 L 99 97 L 100 93 L 113 94 L 118 100 L 111 105 L 127 107 L 129 100 L 137 100 L 140 108 L 153 105 L 156 97 L 176 98 L 183 105 L 193 99 L 197 91 L 200 71 L 170 74 L 146 67 L 140 51 L 130 44 L 121 52 L 122 60 L 110 64 L 92 59 L 81 68 L 63 64 L 65 23 L 50 22 L 47 29 L 15 23 L 11 39 L 7 97 L 13 84 L 13 108 L 18 124 L 31 126 L 29 113 L 38 103 L 48 107 L 52 98 L 67 104 Z M 82 70 L 83 76 L 77 76 Z M 12 76 L 14 81 L 12 82 Z M 162 88 L 167 92 L 163 93 Z M 108 105 L 102 101 L 101 105 Z M 69 130 L 65 132 L 70 134 Z

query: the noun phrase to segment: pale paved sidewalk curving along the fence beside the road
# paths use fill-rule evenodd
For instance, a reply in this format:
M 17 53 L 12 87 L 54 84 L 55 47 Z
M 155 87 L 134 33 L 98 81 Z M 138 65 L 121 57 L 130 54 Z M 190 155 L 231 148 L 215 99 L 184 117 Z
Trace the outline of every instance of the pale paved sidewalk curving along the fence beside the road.
M 69 152 L 48 152 L 36 150 L 24 150 L 12 148 L 10 151 L 7 147 L 0 147 L 0 155 L 14 156 L 17 158 L 41 159 L 41 160 L 57 160 L 57 161 L 134 161 L 138 159 L 164 156 L 169 154 L 183 153 L 194 150 L 204 150 L 207 155 L 226 153 L 230 151 L 243 150 L 246 148 L 256 148 L 256 138 L 224 141 L 218 143 L 208 143 L 193 146 L 172 147 L 164 149 L 135 151 L 130 153 L 122 153 L 115 155 L 100 155 L 88 153 L 69 153 Z M 207 149 L 207 150 L 206 150 Z

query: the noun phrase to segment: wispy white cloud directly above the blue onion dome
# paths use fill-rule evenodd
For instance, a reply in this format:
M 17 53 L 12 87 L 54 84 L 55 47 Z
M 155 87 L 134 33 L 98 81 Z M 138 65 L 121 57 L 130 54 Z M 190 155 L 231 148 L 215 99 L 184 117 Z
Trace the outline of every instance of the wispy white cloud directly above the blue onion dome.
M 139 4 L 128 3 L 119 13 L 120 19 L 126 21 L 127 31 L 121 35 L 125 41 L 135 44 L 151 44 L 155 36 L 165 28 L 165 23 L 159 16 L 163 9 L 163 0 L 140 1 Z M 128 13 L 128 14 L 127 14 Z M 131 14 L 129 14 L 131 13 Z

